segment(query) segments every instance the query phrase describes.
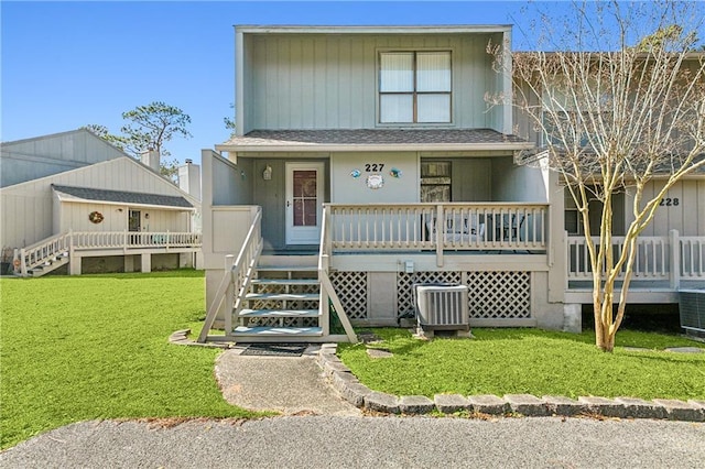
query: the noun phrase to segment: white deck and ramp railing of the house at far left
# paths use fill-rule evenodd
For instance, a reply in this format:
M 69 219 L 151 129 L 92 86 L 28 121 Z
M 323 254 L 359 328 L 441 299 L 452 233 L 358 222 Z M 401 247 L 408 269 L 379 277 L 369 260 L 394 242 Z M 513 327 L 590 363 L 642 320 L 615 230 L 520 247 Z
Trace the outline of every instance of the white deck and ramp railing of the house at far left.
M 14 254 L 15 273 L 26 276 L 29 271 L 70 250 L 116 250 L 127 252 L 131 249 L 170 249 L 202 246 L 200 233 L 170 231 L 69 231 L 54 234 L 26 248 L 18 249 Z

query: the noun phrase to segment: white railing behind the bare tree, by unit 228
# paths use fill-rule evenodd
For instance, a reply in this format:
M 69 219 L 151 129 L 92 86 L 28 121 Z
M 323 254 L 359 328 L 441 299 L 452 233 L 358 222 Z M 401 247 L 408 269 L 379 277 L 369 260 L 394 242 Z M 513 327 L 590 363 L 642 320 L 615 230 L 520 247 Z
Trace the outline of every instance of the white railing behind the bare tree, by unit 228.
M 567 236 L 567 280 L 592 280 L 589 252 L 585 237 Z M 599 237 L 593 237 L 598 242 Z M 623 237 L 612 237 L 615 259 L 625 249 Z M 622 279 L 620 272 L 618 279 Z M 669 236 L 639 237 L 632 279 L 638 281 L 669 281 L 677 288 L 681 280 L 705 280 L 705 237 L 681 237 L 676 230 Z

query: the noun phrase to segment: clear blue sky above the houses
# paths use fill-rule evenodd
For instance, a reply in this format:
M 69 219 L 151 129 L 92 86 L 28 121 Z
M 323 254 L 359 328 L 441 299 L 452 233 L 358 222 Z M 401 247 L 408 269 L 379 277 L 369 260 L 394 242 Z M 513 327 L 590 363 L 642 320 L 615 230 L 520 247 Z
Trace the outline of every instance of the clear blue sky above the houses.
M 234 24 L 508 24 L 524 2 L 8 2 L 2 121 L 12 141 L 98 123 L 162 100 L 192 118 L 182 161 L 228 138 Z

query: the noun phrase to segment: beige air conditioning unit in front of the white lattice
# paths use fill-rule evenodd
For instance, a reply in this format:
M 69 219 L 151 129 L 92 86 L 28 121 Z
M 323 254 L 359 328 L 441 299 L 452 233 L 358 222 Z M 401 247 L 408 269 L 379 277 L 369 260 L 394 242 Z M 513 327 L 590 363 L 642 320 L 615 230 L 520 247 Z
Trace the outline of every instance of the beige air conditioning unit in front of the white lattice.
M 416 285 L 417 321 L 432 329 L 469 328 L 467 286 Z

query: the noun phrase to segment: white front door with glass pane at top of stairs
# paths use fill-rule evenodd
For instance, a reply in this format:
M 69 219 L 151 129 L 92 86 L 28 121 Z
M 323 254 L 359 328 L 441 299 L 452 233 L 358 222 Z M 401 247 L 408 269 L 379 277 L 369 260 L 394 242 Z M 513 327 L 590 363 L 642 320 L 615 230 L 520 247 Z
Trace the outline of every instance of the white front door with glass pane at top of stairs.
M 286 172 L 286 199 L 285 199 L 285 240 L 286 244 L 318 244 L 321 242 L 321 221 L 323 218 L 323 198 L 325 187 L 325 163 L 324 162 L 305 162 L 305 163 L 290 163 L 285 164 Z M 305 217 L 304 214 L 294 216 L 294 209 L 304 210 L 306 204 L 304 199 L 312 200 L 311 197 L 305 197 L 302 194 L 294 194 L 294 173 L 297 171 L 314 171 L 316 181 L 316 195 L 315 195 L 315 225 L 302 225 L 306 222 L 306 219 L 311 220 L 311 217 Z

